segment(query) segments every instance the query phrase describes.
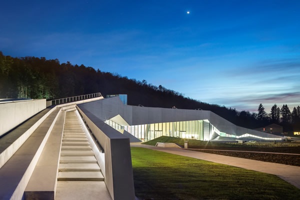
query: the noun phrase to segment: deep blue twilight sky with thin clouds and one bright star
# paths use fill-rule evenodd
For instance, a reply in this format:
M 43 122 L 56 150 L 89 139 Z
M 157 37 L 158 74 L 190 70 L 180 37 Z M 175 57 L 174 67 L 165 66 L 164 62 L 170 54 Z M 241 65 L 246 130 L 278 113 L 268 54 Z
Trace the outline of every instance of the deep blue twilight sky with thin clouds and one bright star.
M 239 111 L 292 110 L 299 10 L 300 0 L 5 0 L 0 51 L 145 79 Z

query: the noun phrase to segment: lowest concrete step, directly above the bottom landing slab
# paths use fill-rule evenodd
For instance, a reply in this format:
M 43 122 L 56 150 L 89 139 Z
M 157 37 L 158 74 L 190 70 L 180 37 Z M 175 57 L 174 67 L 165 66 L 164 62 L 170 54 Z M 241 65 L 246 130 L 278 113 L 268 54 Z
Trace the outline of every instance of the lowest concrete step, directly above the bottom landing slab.
M 59 171 L 57 180 L 98 180 L 104 177 L 100 171 Z

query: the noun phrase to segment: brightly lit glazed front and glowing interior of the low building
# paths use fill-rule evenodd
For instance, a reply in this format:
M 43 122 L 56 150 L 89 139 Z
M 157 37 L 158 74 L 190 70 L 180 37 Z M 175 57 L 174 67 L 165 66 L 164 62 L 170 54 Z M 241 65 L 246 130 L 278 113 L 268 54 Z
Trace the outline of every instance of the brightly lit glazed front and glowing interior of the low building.
M 148 141 L 159 136 L 172 136 L 197 140 L 214 140 L 220 137 L 234 140 L 235 138 L 253 137 L 254 139 L 276 140 L 278 138 L 261 137 L 249 133 L 240 136 L 219 131 L 207 119 L 191 121 L 172 121 L 129 125 L 120 115 L 105 120 L 105 123 L 116 130 L 123 130 L 141 141 Z M 231 139 L 230 139 L 231 138 Z

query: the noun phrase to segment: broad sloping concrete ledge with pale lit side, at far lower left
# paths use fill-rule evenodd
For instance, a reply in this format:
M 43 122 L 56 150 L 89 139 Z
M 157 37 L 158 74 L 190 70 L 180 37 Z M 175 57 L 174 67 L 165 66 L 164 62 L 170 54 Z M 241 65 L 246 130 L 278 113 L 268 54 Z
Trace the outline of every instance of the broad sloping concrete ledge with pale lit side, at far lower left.
M 41 152 L 42 142 L 47 135 L 59 109 L 55 109 L 46 119 L 40 123 L 29 138 L 18 148 L 10 159 L 0 168 L 0 199 L 21 199 L 23 191 L 29 181 L 33 168 Z M 45 114 L 45 113 L 43 113 Z M 39 115 L 39 117 L 42 117 Z M 30 120 L 30 119 L 29 119 Z M 34 121 L 33 118 L 31 119 Z M 30 121 L 31 121 L 30 120 Z M 34 122 L 32 123 L 34 124 Z M 15 129 L 12 137 L 21 133 L 22 126 Z M 10 133 L 9 133 L 10 134 Z M 10 137 L 11 135 L 5 135 Z

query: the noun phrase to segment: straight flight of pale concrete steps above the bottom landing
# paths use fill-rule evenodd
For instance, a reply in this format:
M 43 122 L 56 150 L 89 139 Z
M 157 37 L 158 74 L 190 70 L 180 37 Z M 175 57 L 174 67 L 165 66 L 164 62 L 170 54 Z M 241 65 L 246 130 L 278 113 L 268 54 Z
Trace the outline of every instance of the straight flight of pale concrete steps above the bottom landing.
M 104 180 L 75 110 L 65 115 L 57 180 Z

